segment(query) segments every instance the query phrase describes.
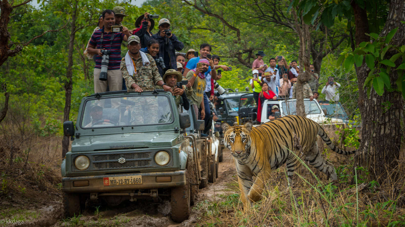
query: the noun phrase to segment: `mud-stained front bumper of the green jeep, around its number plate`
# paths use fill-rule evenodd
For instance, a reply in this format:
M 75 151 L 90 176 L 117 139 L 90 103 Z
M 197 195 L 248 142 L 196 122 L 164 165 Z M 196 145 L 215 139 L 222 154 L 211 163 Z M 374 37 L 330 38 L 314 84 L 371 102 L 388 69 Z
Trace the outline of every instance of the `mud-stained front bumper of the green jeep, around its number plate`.
M 109 185 L 104 186 L 105 177 L 126 177 L 142 176 L 141 184 L 130 185 Z M 164 179 L 165 182 L 162 182 Z M 147 172 L 147 173 L 126 173 L 126 174 L 108 174 L 85 177 L 64 177 L 62 179 L 62 191 L 68 193 L 84 192 L 102 192 L 102 191 L 120 191 L 133 189 L 153 189 L 183 186 L 186 183 L 185 170 L 176 170 L 170 172 Z

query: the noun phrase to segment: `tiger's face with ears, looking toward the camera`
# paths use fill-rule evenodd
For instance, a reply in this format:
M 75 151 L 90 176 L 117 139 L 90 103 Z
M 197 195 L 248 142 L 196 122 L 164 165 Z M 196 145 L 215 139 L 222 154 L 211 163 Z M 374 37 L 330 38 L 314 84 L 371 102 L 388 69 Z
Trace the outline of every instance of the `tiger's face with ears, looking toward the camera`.
M 243 158 L 249 155 L 250 144 L 252 143 L 252 138 L 250 137 L 252 126 L 253 123 L 251 121 L 243 126 L 230 126 L 228 123 L 222 122 L 224 145 L 230 149 L 232 156 L 235 158 Z

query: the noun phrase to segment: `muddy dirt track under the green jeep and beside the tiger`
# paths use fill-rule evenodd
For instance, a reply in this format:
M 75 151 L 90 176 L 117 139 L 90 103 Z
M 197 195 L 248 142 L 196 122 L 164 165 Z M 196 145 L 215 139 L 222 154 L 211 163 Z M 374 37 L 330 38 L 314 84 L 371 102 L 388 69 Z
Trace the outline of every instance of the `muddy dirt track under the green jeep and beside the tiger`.
M 124 202 L 118 208 L 108 206 L 87 207 L 83 216 L 70 220 L 62 219 L 62 202 L 48 201 L 35 208 L 39 210 L 34 217 L 25 218 L 23 225 L 29 227 L 44 226 L 126 226 L 126 227 L 176 227 L 194 226 L 200 216 L 205 212 L 202 203 L 218 202 L 224 200 L 221 195 L 237 193 L 234 186 L 235 170 L 228 150 L 224 152 L 224 162 L 219 164 L 219 174 L 215 183 L 209 183 L 208 187 L 200 189 L 197 200 L 192 206 L 192 212 L 188 220 L 175 223 L 170 219 L 171 206 L 168 201 L 163 204 L 152 204 L 149 200 L 137 202 Z M 0 226 L 9 226 L 2 225 Z M 13 226 L 13 225 L 11 225 Z

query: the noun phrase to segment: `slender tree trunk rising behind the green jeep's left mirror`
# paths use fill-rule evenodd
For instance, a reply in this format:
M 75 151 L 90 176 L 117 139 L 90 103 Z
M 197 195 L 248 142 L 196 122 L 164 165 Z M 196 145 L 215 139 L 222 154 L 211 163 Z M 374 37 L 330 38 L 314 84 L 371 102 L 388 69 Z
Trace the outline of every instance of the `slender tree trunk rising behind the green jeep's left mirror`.
M 73 49 L 74 49 L 74 42 L 75 42 L 75 34 L 76 34 L 76 17 L 77 17 L 77 0 L 74 1 L 75 8 L 72 13 L 72 21 L 70 22 L 70 34 L 69 34 L 69 49 L 68 49 L 68 67 L 66 69 L 66 82 L 64 84 L 65 89 L 65 108 L 63 111 L 63 121 L 69 120 L 70 115 L 70 102 L 72 99 L 72 74 L 73 74 Z M 69 137 L 63 137 L 62 139 L 62 158 L 65 158 L 66 153 L 69 149 Z

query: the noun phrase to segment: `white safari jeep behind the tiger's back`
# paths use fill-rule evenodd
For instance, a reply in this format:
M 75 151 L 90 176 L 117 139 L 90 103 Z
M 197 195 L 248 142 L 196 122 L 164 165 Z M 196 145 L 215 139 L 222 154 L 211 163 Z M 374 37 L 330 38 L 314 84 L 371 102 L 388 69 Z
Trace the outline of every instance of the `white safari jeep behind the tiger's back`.
M 271 108 L 273 105 L 279 107 L 281 117 L 287 115 L 296 115 L 296 99 L 267 99 L 263 103 L 261 119 L 257 120 L 257 124 L 269 122 L 269 116 L 272 114 Z M 344 124 L 341 119 L 338 118 L 327 118 L 324 111 L 317 101 L 309 99 L 304 99 L 305 113 L 307 113 L 307 118 L 317 122 L 318 124 Z M 276 112 L 276 115 L 278 113 Z

